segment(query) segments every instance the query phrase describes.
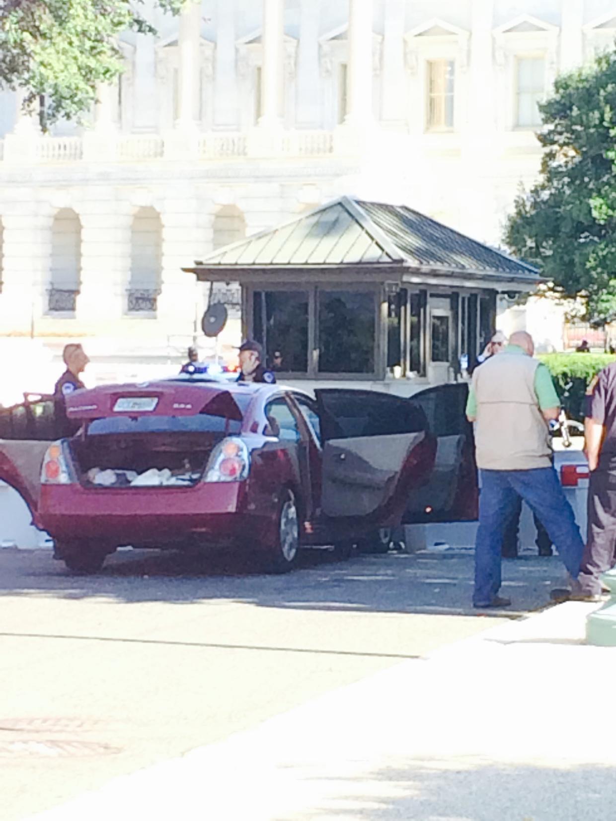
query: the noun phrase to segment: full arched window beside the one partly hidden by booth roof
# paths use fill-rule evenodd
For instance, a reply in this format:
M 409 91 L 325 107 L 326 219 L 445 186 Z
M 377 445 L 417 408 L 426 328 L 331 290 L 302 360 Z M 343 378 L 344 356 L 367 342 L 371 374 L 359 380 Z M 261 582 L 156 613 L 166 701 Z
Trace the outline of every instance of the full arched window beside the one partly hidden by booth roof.
M 153 313 L 160 294 L 163 268 L 163 226 L 154 208 L 140 208 L 132 221 L 129 313 Z

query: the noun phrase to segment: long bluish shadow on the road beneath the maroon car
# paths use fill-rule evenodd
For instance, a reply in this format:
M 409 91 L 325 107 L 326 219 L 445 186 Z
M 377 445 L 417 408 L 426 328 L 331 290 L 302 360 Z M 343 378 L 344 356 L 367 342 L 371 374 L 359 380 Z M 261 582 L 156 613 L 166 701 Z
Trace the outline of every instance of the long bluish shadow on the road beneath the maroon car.
M 515 617 L 545 607 L 562 575 L 556 557 L 504 561 L 503 594 L 513 607 L 486 614 Z M 321 611 L 480 616 L 483 611 L 471 608 L 472 576 L 472 553 L 360 554 L 341 562 L 328 551 L 313 550 L 302 553 L 297 570 L 269 576 L 239 552 L 121 551 L 108 557 L 99 574 L 72 576 L 49 551 L 0 551 L 0 595 L 125 603 L 236 601 Z

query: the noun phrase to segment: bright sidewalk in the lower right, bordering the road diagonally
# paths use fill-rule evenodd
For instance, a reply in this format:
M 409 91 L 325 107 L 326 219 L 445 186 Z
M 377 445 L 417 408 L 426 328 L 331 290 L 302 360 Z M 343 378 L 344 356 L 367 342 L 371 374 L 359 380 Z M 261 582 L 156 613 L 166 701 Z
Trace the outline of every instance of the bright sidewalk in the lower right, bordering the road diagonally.
M 595 608 L 503 622 L 36 818 L 609 818 L 616 655 L 584 644 Z

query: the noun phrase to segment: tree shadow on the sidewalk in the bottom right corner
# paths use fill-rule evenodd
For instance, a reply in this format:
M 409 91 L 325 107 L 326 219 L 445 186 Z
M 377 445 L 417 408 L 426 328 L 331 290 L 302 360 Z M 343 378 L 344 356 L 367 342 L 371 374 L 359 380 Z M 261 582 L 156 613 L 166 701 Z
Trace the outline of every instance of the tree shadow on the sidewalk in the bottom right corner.
M 300 785 L 308 773 L 302 775 Z M 312 780 L 319 802 L 286 818 L 595 821 L 609 817 L 616 798 L 613 766 L 568 761 L 494 764 L 461 756 L 408 759 L 402 766 L 398 759 L 395 767 L 361 777 L 315 772 Z

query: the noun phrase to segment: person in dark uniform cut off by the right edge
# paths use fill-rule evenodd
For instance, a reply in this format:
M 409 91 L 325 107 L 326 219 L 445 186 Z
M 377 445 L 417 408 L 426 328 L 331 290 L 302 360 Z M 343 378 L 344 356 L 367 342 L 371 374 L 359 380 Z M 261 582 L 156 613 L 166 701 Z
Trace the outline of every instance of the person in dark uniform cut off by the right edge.
M 600 600 L 600 575 L 614 566 L 616 544 L 616 362 L 604 368 L 586 392 L 588 539 L 578 576 L 586 599 Z M 574 595 L 574 598 L 577 596 Z

